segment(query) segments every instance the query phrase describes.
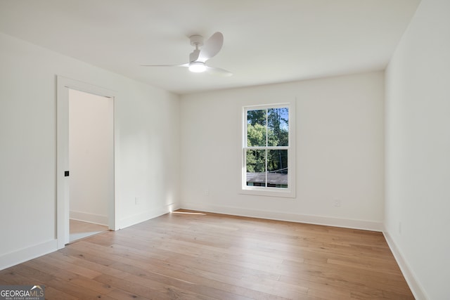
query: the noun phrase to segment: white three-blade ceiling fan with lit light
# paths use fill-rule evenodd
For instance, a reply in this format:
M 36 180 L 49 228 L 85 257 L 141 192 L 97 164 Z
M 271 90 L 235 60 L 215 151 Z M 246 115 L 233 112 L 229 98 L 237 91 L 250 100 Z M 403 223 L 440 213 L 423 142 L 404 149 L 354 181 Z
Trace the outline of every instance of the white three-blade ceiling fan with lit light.
M 182 65 L 143 65 L 143 67 L 188 67 L 189 71 L 195 73 L 206 71 L 221 76 L 231 76 L 233 74 L 219 67 L 206 65 L 206 61 L 216 56 L 224 44 L 224 35 L 221 32 L 212 34 L 205 43 L 203 43 L 203 37 L 201 35 L 193 35 L 189 39 L 191 40 L 191 45 L 195 46 L 195 50 L 189 54 L 189 63 Z

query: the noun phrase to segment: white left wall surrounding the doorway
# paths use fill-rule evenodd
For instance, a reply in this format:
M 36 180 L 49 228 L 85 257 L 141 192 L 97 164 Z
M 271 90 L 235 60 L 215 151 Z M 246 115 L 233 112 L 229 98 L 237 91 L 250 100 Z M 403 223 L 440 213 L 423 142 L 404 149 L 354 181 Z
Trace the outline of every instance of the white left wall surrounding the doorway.
M 56 75 L 117 93 L 116 227 L 176 207 L 178 96 L 5 34 L 0 65 L 0 269 L 56 249 Z

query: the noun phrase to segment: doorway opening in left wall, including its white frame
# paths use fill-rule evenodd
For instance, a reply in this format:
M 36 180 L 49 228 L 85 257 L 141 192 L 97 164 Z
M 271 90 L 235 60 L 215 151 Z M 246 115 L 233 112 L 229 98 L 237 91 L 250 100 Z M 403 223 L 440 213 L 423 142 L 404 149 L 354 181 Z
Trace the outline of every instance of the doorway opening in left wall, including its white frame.
M 58 249 L 115 230 L 114 95 L 58 77 Z

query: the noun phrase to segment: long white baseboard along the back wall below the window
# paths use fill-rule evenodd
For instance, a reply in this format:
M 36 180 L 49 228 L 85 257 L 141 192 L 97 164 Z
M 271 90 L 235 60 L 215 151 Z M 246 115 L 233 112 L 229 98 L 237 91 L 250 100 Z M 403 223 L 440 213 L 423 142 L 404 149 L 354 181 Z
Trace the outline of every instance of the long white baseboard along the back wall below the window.
M 231 214 L 234 216 L 250 216 L 252 218 L 309 223 L 316 225 L 335 226 L 342 228 L 383 231 L 383 223 L 375 221 L 340 219 L 328 216 L 311 216 L 306 214 L 288 214 L 281 211 L 264 211 L 259 209 L 243 209 L 240 207 L 225 207 L 210 204 L 186 203 L 181 207 L 198 211 L 209 211 L 218 214 Z

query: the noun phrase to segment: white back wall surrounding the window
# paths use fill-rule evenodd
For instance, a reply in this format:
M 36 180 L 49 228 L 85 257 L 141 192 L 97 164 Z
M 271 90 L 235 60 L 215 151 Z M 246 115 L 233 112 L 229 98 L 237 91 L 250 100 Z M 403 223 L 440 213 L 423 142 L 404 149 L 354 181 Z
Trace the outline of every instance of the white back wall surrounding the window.
M 293 98 L 297 197 L 240 194 L 243 105 Z M 182 207 L 382 229 L 383 72 L 191 94 L 181 111 Z

